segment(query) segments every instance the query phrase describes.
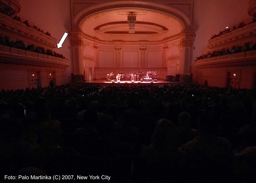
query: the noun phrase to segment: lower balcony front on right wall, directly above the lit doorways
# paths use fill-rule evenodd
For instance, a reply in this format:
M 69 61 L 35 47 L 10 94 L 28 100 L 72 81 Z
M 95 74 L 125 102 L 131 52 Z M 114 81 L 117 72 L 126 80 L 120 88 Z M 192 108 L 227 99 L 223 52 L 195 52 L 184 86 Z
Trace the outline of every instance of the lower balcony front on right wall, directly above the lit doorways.
M 244 65 L 256 65 L 256 50 L 203 58 L 195 61 L 195 67 L 198 68 Z

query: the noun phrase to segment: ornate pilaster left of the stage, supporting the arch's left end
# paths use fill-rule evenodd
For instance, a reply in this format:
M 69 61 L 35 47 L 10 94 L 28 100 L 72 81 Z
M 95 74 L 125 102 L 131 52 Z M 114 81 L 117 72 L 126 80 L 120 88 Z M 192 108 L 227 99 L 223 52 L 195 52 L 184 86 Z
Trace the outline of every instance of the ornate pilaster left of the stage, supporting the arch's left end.
M 83 39 L 82 32 L 72 31 L 71 35 L 74 74 L 83 74 Z

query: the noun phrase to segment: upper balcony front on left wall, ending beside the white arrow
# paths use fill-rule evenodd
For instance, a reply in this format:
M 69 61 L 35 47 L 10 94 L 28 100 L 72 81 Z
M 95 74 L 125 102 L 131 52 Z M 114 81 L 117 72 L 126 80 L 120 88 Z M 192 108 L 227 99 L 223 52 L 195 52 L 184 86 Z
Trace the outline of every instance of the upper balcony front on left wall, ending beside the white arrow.
M 57 40 L 45 33 L 27 26 L 25 23 L 0 13 L 0 31 L 6 35 L 13 35 L 19 40 L 27 40 L 31 44 L 40 45 L 49 49 L 57 47 Z

